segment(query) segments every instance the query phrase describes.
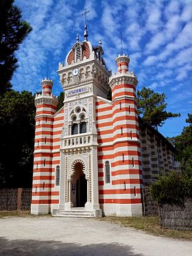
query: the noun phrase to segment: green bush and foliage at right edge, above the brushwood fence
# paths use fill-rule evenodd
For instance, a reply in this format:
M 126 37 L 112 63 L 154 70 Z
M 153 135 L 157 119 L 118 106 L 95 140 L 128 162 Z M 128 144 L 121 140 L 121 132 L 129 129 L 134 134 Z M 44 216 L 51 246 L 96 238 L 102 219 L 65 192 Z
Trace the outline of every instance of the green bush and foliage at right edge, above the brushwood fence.
M 184 198 L 192 198 L 192 115 L 188 114 L 188 117 L 189 126 L 183 128 L 180 136 L 171 138 L 181 172 L 159 176 L 152 185 L 152 196 L 160 204 L 182 205 Z

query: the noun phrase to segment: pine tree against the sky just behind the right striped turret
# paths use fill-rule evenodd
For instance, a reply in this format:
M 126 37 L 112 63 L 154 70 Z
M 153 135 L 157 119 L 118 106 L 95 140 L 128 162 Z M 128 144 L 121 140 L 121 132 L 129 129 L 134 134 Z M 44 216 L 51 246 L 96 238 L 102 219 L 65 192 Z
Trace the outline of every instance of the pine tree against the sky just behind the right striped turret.
M 180 117 L 180 114 L 167 112 L 165 93 L 154 93 L 153 90 L 143 87 L 137 91 L 137 104 L 139 114 L 151 126 L 158 130 L 158 126 L 163 126 L 165 121 L 171 117 Z

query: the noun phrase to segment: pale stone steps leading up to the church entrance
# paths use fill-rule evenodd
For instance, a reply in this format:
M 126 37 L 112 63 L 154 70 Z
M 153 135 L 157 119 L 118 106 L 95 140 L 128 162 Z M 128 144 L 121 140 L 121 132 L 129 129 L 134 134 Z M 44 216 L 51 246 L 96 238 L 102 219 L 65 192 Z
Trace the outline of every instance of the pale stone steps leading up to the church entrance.
M 52 214 L 53 217 L 68 218 L 93 218 L 92 211 L 86 211 L 84 207 L 73 207 L 71 210 L 60 210 Z

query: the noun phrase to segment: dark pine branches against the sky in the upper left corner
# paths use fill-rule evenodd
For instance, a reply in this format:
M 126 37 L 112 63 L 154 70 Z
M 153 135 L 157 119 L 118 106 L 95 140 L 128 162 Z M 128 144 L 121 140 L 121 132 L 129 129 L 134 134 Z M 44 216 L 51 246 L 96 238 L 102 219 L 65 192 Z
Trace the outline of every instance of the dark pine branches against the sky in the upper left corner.
M 21 10 L 14 0 L 0 1 L 0 93 L 11 88 L 10 80 L 18 67 L 14 52 L 32 31 L 29 23 L 21 18 Z

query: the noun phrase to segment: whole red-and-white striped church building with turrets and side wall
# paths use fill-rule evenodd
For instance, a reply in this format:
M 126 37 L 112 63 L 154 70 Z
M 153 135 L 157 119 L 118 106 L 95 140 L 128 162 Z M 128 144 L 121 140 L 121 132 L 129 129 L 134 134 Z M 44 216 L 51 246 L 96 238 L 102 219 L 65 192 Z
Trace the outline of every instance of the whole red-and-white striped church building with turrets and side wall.
M 93 216 L 101 211 L 106 216 L 141 216 L 143 183 L 152 183 L 160 168 L 173 168 L 165 138 L 139 122 L 130 58 L 117 56 L 117 73 L 110 75 L 102 54 L 101 45 L 93 47 L 87 40 L 69 51 L 58 70 L 65 92 L 58 112 L 51 80 L 43 80 L 42 94 L 36 95 L 34 214 L 72 209 L 82 193 L 74 194 L 80 168 L 86 179 L 84 207 Z M 112 101 L 106 100 L 110 88 Z M 82 123 L 86 132 L 81 133 Z

